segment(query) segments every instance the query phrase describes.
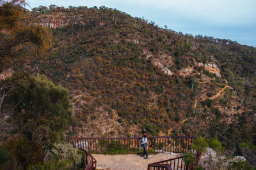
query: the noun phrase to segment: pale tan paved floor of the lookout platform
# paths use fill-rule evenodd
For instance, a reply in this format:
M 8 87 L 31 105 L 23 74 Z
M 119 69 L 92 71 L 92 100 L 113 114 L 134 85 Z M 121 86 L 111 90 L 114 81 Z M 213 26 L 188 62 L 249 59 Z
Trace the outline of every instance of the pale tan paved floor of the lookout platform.
M 172 159 L 179 157 L 182 153 L 157 153 L 154 155 L 148 155 L 149 159 L 143 159 L 140 155 L 127 154 L 127 155 L 103 155 L 93 154 L 93 157 L 97 160 L 97 169 L 104 170 L 120 170 L 120 169 L 133 169 L 133 170 L 145 170 L 148 164 L 158 162 L 161 160 Z

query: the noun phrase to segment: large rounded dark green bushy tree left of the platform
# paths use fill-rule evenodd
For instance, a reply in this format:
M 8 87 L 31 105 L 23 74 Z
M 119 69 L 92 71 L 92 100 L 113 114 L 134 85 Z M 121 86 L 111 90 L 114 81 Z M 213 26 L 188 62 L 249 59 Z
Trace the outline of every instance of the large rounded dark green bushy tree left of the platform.
M 15 83 L 17 90 L 4 103 L 15 103 L 12 115 L 20 133 L 41 143 L 43 148 L 63 139 L 63 132 L 71 120 L 68 92 L 55 86 L 45 76 L 33 77 L 16 73 L 7 83 Z

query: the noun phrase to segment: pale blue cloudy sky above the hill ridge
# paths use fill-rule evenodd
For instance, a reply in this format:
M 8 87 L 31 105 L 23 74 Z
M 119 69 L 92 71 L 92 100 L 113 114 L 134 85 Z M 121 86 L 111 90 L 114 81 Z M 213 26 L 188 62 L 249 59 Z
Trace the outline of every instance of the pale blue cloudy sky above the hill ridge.
M 256 0 L 28 0 L 31 8 L 106 6 L 183 34 L 201 34 L 256 47 Z

